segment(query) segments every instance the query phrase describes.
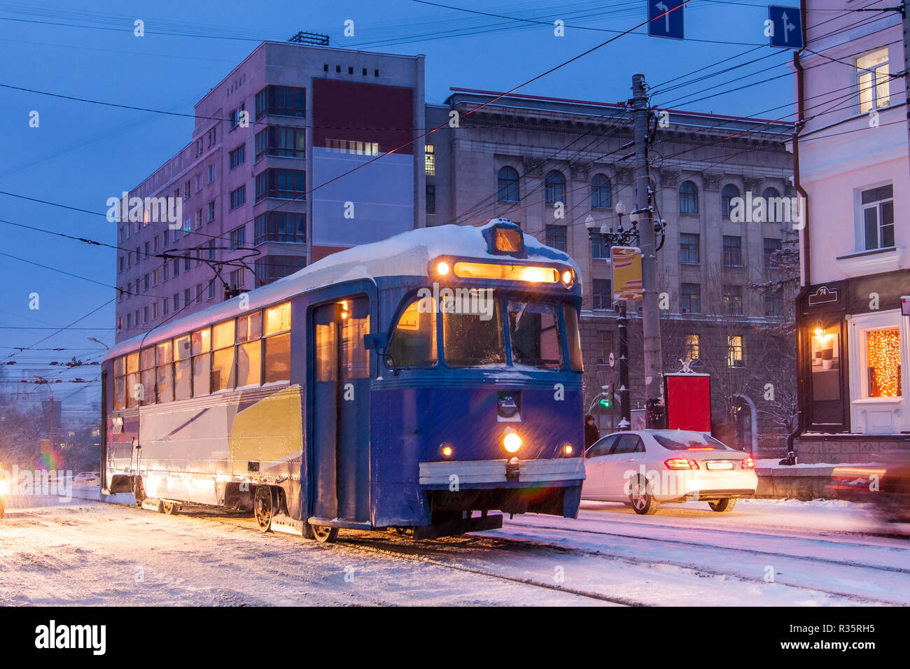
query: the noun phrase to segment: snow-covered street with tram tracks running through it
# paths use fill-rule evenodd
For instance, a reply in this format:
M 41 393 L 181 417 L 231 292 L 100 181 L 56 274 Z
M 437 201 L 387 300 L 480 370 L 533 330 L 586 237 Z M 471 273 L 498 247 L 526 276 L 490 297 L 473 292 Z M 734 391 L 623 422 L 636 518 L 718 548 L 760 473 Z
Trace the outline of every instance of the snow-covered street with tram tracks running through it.
M 730 514 L 687 503 L 646 517 L 584 502 L 578 520 L 528 514 L 430 542 L 342 531 L 320 544 L 204 507 L 30 498 L 0 521 L 0 604 L 906 604 L 910 541 L 881 529 L 848 502 L 755 500 Z

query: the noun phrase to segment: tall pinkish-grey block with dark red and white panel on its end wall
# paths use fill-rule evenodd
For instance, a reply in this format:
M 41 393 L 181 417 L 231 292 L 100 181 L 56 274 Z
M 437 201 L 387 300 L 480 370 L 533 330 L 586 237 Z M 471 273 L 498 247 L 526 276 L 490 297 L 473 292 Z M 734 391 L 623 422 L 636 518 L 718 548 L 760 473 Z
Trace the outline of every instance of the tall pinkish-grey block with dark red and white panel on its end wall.
M 187 146 L 129 191 L 144 210 L 117 224 L 117 340 L 422 225 L 423 117 L 422 56 L 258 46 L 197 103 Z M 146 198 L 178 200 L 181 220 Z

